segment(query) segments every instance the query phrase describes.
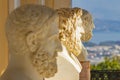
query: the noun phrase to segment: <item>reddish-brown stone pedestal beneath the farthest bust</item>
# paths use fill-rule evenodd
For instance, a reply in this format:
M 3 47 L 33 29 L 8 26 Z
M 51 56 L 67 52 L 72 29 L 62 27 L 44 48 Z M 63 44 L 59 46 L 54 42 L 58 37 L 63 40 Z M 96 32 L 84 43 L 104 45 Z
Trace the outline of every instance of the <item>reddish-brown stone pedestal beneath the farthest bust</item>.
M 80 73 L 80 80 L 90 80 L 90 62 L 80 61 L 82 65 L 82 71 Z

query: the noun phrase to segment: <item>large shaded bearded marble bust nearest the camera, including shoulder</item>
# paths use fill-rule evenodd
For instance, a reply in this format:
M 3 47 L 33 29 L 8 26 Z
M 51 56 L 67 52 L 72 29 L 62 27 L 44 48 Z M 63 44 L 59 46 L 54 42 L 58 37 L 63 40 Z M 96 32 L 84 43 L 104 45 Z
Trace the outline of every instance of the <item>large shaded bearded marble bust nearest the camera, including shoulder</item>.
M 59 16 L 41 5 L 14 10 L 6 21 L 9 64 L 0 80 L 43 80 L 57 72 L 57 52 L 62 50 Z

